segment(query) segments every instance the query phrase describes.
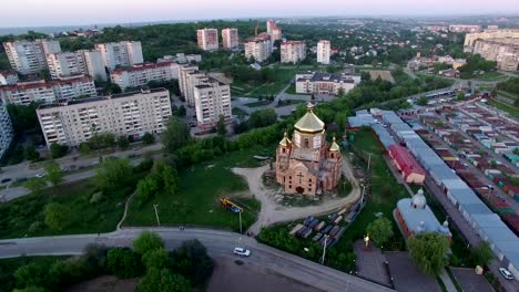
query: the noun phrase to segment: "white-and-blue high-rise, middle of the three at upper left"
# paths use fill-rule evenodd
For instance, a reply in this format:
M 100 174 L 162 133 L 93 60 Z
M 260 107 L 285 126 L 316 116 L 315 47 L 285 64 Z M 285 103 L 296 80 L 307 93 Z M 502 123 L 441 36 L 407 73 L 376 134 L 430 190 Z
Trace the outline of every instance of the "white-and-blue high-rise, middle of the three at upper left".
M 47 64 L 52 79 L 85 74 L 94 80 L 106 81 L 106 72 L 100 51 L 80 50 L 47 54 Z

